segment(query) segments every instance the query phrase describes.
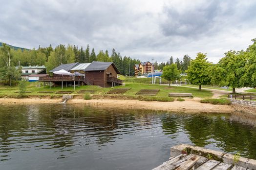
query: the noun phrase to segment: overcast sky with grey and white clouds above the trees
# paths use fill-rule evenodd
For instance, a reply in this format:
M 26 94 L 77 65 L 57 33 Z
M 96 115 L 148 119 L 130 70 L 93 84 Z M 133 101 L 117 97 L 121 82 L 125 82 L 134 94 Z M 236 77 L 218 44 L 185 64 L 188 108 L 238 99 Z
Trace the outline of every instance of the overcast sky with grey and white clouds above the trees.
M 72 44 L 115 48 L 142 61 L 217 63 L 256 38 L 256 0 L 0 0 L 0 41 L 32 49 Z

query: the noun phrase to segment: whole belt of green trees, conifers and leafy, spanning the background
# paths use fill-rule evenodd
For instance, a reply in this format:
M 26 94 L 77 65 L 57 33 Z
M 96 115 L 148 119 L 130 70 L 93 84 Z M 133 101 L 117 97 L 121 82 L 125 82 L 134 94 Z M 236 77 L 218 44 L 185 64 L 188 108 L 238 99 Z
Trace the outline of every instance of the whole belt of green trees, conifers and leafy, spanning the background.
M 253 44 L 246 50 L 225 52 L 217 64 L 209 62 L 206 53 L 198 52 L 195 59 L 184 55 L 181 61 L 177 58 L 174 62 L 171 56 L 167 62 L 155 62 L 154 69 L 167 72 L 167 68 L 170 68 L 175 70 L 176 74 L 187 73 L 187 80 L 192 85 L 199 85 L 199 88 L 201 85 L 226 85 L 232 87 L 235 92 L 235 88 L 256 87 L 256 39 L 252 41 Z M 62 44 L 54 49 L 50 45 L 45 48 L 39 46 L 33 50 L 14 50 L 3 43 L 0 47 L 0 80 L 8 81 L 10 85 L 11 80 L 17 80 L 20 72 L 15 66 L 45 65 L 49 71 L 61 64 L 92 61 L 113 62 L 123 75 L 130 73 L 131 76 L 134 74 L 134 65 L 141 62 L 129 56 L 122 56 L 115 49 L 111 54 L 107 50 L 101 50 L 96 54 L 94 48 L 90 50 L 89 45 L 85 50 L 83 47 L 65 47 Z M 174 71 L 169 71 L 169 76 L 171 72 Z M 172 79 L 176 77 L 172 75 Z

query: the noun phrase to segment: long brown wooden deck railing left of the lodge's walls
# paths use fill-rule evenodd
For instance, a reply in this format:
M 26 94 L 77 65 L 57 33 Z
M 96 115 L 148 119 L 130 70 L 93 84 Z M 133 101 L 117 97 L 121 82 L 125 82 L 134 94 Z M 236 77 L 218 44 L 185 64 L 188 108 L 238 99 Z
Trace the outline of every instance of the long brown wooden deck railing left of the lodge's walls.
M 71 82 L 71 81 L 84 81 L 84 77 L 82 76 L 45 76 L 39 77 L 40 82 Z

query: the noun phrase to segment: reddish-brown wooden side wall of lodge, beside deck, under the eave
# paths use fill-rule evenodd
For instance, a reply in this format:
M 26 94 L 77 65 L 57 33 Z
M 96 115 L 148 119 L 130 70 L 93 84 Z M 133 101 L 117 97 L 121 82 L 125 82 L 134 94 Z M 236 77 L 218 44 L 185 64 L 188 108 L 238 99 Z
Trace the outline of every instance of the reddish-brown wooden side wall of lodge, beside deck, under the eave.
M 85 73 L 86 79 L 92 81 L 94 85 L 99 85 L 101 87 L 106 87 L 104 76 L 104 71 L 86 71 Z

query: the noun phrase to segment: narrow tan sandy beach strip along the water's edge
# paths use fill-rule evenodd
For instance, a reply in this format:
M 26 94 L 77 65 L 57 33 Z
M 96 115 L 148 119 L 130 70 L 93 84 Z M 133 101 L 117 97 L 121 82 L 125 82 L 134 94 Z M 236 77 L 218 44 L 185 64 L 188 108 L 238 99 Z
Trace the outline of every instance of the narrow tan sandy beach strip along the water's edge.
M 13 99 L 0 98 L 0 104 L 45 104 L 45 103 L 60 103 L 62 99 Z M 210 103 L 200 103 L 198 101 L 186 100 L 184 102 L 146 102 L 137 100 L 117 100 L 117 99 L 72 99 L 67 103 L 85 104 L 88 106 L 97 107 L 112 107 L 112 108 L 128 108 L 128 109 L 149 109 L 163 111 L 177 111 L 190 113 L 232 113 L 235 109 L 231 105 L 219 105 Z

